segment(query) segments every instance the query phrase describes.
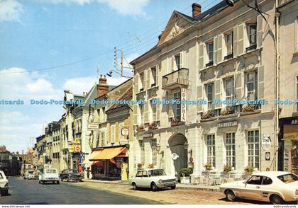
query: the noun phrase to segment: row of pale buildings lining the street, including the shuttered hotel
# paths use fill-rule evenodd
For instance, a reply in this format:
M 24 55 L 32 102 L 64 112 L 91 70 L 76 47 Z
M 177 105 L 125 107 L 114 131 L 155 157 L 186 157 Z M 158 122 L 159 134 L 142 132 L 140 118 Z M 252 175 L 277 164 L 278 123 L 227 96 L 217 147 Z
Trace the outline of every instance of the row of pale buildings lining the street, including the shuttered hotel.
M 148 167 L 191 168 L 195 178 L 206 164 L 297 173 L 298 1 L 201 10 L 174 11 L 158 44 L 131 62 L 128 81 L 111 88 L 101 76 L 88 93 L 65 91 L 84 103 L 65 105 L 37 138 L 35 165 L 122 180 Z

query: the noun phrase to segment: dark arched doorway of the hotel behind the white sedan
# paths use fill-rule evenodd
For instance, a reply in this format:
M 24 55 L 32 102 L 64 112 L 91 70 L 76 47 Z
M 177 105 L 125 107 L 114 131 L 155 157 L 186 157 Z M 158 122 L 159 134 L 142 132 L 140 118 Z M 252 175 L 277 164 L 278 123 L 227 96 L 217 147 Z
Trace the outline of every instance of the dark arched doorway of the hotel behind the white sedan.
M 183 134 L 175 134 L 169 139 L 171 154 L 177 154 L 173 159 L 175 175 L 180 178 L 181 168 L 187 168 L 187 138 Z

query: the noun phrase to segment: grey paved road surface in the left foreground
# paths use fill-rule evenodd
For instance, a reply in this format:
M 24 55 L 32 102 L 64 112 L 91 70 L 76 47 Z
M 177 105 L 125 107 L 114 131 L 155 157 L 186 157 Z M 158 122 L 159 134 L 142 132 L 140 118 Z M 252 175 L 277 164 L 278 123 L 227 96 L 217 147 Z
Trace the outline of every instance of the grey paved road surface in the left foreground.
M 9 186 L 10 195 L 0 197 L 0 204 L 160 204 L 153 200 L 69 183 L 41 185 L 37 180 L 11 177 Z

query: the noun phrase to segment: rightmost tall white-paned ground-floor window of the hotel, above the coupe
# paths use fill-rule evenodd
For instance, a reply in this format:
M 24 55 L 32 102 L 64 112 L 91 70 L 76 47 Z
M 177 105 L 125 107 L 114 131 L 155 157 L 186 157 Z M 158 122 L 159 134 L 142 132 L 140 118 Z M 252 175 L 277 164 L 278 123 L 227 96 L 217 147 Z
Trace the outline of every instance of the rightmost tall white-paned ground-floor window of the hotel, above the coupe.
M 248 166 L 260 168 L 260 139 L 259 131 L 248 131 Z

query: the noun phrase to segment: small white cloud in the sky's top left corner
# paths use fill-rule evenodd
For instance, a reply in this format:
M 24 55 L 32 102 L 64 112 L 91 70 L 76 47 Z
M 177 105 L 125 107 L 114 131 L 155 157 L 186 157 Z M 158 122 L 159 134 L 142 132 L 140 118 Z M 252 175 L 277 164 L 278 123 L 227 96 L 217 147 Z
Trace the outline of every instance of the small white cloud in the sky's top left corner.
M 21 23 L 23 6 L 16 0 L 0 0 L 0 21 L 16 21 Z

